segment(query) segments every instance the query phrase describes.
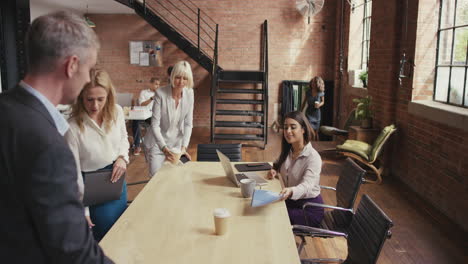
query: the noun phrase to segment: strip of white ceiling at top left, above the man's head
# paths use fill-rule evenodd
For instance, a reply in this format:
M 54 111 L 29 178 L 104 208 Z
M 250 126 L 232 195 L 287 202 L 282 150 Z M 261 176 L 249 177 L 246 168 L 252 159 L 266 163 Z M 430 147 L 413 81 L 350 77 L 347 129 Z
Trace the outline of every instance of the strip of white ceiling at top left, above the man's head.
M 134 14 L 133 9 L 115 0 L 30 0 L 31 20 L 57 10 L 71 9 L 80 14 Z

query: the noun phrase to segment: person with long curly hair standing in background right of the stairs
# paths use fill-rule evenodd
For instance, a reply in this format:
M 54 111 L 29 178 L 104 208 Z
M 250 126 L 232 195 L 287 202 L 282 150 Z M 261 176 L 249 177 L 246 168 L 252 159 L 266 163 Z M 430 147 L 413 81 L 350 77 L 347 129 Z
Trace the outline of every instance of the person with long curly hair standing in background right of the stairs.
M 312 126 L 315 135 L 317 136 L 320 128 L 320 121 L 322 119 L 320 107 L 325 104 L 325 83 L 321 77 L 316 76 L 310 80 L 309 85 L 310 89 L 306 92 L 306 100 L 308 104 L 306 116 L 310 122 L 310 126 Z

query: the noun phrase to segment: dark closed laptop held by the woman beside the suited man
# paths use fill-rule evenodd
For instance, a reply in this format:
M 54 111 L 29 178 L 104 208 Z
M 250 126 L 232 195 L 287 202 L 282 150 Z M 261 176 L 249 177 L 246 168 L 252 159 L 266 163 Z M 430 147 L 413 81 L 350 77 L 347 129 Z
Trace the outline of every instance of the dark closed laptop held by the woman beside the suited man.
M 112 169 L 84 172 L 84 195 L 83 204 L 85 206 L 105 203 L 118 200 L 122 193 L 122 187 L 126 174 L 112 183 Z

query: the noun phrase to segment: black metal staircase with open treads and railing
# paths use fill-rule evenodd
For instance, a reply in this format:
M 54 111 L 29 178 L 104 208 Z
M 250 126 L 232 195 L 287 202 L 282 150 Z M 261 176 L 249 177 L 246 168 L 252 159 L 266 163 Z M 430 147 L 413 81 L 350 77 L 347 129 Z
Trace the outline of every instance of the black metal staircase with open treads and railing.
M 262 26 L 261 70 L 224 70 L 218 65 L 218 24 L 190 0 L 116 1 L 133 8 L 139 16 L 210 72 L 211 142 L 262 141 L 261 147 L 265 147 L 268 138 L 266 20 Z

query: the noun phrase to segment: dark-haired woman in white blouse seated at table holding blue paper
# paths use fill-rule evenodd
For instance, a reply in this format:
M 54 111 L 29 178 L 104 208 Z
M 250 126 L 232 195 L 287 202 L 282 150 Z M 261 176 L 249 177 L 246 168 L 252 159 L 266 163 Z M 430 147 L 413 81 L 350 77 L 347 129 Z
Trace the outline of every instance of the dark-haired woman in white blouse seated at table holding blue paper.
M 310 143 L 313 138 L 306 117 L 300 111 L 290 112 L 284 117 L 281 154 L 273 164 L 267 178 L 278 172 L 284 182 L 280 192 L 286 200 L 289 220 L 293 225 L 306 225 L 302 206 L 306 202 L 323 203 L 320 195 L 320 171 L 322 159 Z M 323 208 L 307 207 L 309 226 L 317 227 L 323 218 Z

